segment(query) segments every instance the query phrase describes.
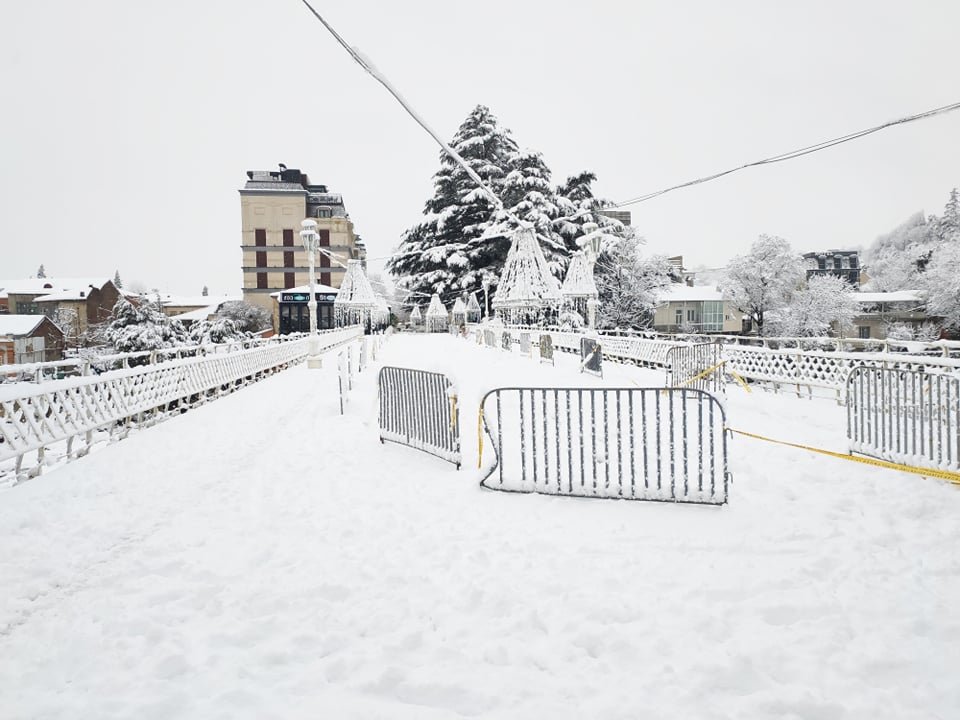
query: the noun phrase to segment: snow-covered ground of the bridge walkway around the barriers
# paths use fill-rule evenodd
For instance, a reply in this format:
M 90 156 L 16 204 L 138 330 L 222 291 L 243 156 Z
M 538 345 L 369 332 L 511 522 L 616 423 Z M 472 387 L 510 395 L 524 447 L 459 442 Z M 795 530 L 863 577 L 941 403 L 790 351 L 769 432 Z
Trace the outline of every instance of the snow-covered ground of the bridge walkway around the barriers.
M 736 436 L 724 507 L 478 487 L 497 385 L 659 385 L 449 336 L 464 468 L 298 366 L 0 493 L 0 717 L 954 718 L 960 489 Z M 829 400 L 732 427 L 845 451 Z M 485 451 L 488 458 L 489 446 Z

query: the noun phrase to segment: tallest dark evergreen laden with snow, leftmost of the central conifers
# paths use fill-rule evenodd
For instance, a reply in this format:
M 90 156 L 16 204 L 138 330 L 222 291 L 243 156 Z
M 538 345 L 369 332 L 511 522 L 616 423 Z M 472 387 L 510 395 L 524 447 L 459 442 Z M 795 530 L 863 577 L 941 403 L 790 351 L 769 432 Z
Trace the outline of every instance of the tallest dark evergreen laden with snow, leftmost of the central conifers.
M 450 145 L 493 192 L 501 190 L 517 144 L 488 108 L 474 108 Z M 499 274 L 510 238 L 489 232 L 494 202 L 445 152 L 433 182 L 424 219 L 403 234 L 387 270 L 408 297 L 480 290 L 485 275 Z

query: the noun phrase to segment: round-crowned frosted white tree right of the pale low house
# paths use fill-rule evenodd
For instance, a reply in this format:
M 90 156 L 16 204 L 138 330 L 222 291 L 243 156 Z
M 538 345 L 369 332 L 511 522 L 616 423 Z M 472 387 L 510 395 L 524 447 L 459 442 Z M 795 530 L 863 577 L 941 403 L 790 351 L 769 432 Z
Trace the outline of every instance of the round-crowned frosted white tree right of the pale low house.
M 781 237 L 761 235 L 746 255 L 730 261 L 719 288 L 764 334 L 767 313 L 787 304 L 803 277 L 800 257 Z

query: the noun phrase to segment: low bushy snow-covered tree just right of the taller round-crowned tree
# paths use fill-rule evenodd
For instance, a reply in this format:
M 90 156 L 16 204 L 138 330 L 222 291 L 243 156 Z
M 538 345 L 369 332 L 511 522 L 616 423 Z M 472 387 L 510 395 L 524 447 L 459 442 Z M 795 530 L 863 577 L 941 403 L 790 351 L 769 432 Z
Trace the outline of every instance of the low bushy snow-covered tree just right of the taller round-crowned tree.
M 768 317 L 776 335 L 827 337 L 833 323 L 842 336 L 849 333 L 859 312 L 854 290 L 836 275 L 813 275 L 790 301 Z

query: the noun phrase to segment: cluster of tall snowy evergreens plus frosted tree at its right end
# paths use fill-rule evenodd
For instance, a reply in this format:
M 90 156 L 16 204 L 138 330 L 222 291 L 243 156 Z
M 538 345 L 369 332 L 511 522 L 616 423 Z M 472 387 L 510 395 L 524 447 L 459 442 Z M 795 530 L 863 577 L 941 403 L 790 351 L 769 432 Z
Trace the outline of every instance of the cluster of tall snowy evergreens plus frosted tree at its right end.
M 549 271 L 562 279 L 580 249 L 584 226 L 594 223 L 603 239 L 597 264 L 599 324 L 637 325 L 649 315 L 650 290 L 669 282 L 666 261 L 644 262 L 633 228 L 607 217 L 610 203 L 593 191 L 596 176 L 584 171 L 554 184 L 543 156 L 521 149 L 489 108 L 478 105 L 460 125 L 450 146 L 503 203 L 495 203 L 446 153 L 433 177 L 434 194 L 423 219 L 403 233 L 387 270 L 405 293 L 406 307 L 437 293 L 448 303 L 484 290 L 492 296 L 518 220 L 536 230 Z

